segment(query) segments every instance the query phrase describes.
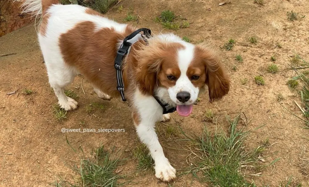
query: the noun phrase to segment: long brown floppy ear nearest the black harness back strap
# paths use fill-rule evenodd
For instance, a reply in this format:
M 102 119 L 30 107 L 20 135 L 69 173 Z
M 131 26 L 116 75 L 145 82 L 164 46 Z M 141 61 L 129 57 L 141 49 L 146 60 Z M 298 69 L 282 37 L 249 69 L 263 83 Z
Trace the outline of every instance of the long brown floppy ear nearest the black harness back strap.
M 157 83 L 157 75 L 162 64 L 162 49 L 144 46 L 143 50 L 137 52 L 138 67 L 136 80 L 143 94 L 152 95 Z

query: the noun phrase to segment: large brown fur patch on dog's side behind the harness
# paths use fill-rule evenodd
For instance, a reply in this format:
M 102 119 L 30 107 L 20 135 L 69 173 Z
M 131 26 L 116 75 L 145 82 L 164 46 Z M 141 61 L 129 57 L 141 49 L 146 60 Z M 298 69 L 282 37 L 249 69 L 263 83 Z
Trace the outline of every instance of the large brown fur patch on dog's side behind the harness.
M 62 34 L 59 38 L 61 54 L 66 64 L 76 67 L 95 87 L 111 97 L 120 97 L 114 68 L 117 44 L 134 29 L 127 26 L 124 33 L 119 33 L 114 28 L 95 31 L 95 27 L 95 23 L 85 21 Z M 125 75 L 123 80 L 128 88 L 128 73 Z

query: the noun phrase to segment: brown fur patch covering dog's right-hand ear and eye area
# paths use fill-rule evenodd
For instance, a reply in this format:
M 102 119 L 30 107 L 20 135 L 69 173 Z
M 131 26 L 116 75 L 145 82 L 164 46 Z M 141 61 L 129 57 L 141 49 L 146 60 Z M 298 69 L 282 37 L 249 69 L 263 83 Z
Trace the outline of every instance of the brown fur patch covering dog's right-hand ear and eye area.
M 205 73 L 200 75 L 199 80 L 192 82 L 200 87 L 205 81 L 205 84 L 208 85 L 210 102 L 221 99 L 229 92 L 230 79 L 224 70 L 223 64 L 212 50 L 202 44 L 195 47 L 194 59 L 187 71 L 188 77 L 197 70 Z

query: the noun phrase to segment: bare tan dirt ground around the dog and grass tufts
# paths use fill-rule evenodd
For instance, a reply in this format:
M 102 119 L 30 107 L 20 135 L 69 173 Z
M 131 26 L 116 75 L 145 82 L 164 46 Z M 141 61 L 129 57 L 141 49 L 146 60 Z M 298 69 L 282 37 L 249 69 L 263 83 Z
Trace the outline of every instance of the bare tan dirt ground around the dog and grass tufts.
M 231 0 L 231 3 L 218 6 L 223 1 L 218 0 L 173 0 L 173 1 L 134 1 L 124 0 L 124 10 L 118 12 L 115 8 L 108 17 L 119 22 L 125 18 L 129 9 L 139 15 L 138 27 L 148 27 L 154 33 L 175 32 L 187 36 L 193 41 L 204 39 L 216 48 L 222 56 L 222 61 L 231 76 L 232 88 L 222 101 L 210 104 L 208 94 L 201 97 L 201 102 L 194 106 L 193 114 L 188 118 L 172 114 L 167 125 L 183 128 L 185 132 L 201 134 L 204 124 L 214 129 L 214 122 L 202 120 L 206 109 L 215 111 L 218 118 L 217 126 L 226 129 L 228 123 L 225 115 L 232 118 L 243 112 L 250 123 L 245 127 L 253 130 L 249 134 L 246 146 L 254 148 L 261 141 L 269 138 L 270 148 L 265 154 L 273 154 L 266 163 L 281 158 L 274 166 L 263 169 L 260 177 L 255 173 L 246 173 L 247 179 L 254 180 L 258 186 L 278 186 L 280 181 L 291 175 L 298 177 L 303 186 L 309 186 L 308 178 L 300 170 L 300 157 L 309 157 L 307 151 L 308 129 L 290 112 L 301 116 L 294 101 L 300 103 L 298 93 L 292 92 L 286 81 L 292 75 L 289 68 L 289 58 L 294 52 L 308 60 L 309 58 L 309 19 L 299 19 L 294 22 L 287 20 L 286 12 L 295 11 L 309 15 L 307 0 L 269 0 L 264 6 L 253 3 L 253 0 Z M 178 31 L 163 29 L 154 19 L 162 10 L 172 10 L 176 15 L 186 18 L 188 28 Z M 1 33 L 1 32 L 0 32 Z M 246 39 L 256 35 L 259 42 L 248 44 Z M 231 51 L 222 48 L 230 38 L 236 41 Z M 280 43 L 282 48 L 274 48 Z M 90 156 L 91 150 L 99 145 L 109 148 L 116 146 L 121 157 L 128 158 L 122 166 L 121 174 L 132 173 L 136 163 L 132 160 L 132 149 L 136 146 L 137 137 L 131 114 L 126 103 L 119 99 L 101 100 L 93 92 L 91 85 L 83 77 L 76 77 L 67 89 L 78 94 L 79 107 L 70 111 L 67 119 L 59 123 L 53 114 L 52 105 L 57 103 L 44 67 L 42 54 L 38 46 L 36 31 L 33 24 L 15 30 L 0 37 L 0 185 L 1 186 L 48 186 L 57 177 L 74 181 L 78 175 L 71 166 L 79 164 L 81 152 L 74 152 L 68 145 L 66 137 L 74 148 L 79 146 L 85 156 Z M 235 55 L 241 54 L 243 63 L 235 60 Z M 267 73 L 265 67 L 270 64 L 270 57 L 275 55 L 275 64 L 279 73 Z M 233 66 L 237 70 L 232 70 Z M 256 85 L 254 76 L 262 75 L 265 85 Z M 240 79 L 247 78 L 246 85 L 240 84 Z M 83 85 L 83 89 L 82 89 Z M 24 88 L 35 93 L 24 95 Z M 83 90 L 85 94 L 83 93 Z M 6 93 L 16 91 L 14 94 Z M 284 100 L 277 101 L 281 93 Z M 91 102 L 99 102 L 106 106 L 97 110 L 94 115 L 86 112 Z M 282 106 L 281 106 L 282 105 Z M 287 111 L 283 108 L 290 110 Z M 81 122 L 86 122 L 81 123 Z M 158 123 L 159 128 L 166 128 Z M 239 126 L 243 126 L 239 124 Z M 125 132 L 119 133 L 62 133 L 61 128 L 119 128 Z M 160 137 L 163 150 L 176 170 L 187 167 L 186 156 L 189 154 L 181 148 L 185 143 L 165 141 Z M 300 155 L 301 154 L 301 155 Z M 167 186 L 159 182 L 153 172 L 140 172 L 134 178 L 136 186 Z M 191 176 L 178 177 L 174 186 L 204 186 L 193 180 Z

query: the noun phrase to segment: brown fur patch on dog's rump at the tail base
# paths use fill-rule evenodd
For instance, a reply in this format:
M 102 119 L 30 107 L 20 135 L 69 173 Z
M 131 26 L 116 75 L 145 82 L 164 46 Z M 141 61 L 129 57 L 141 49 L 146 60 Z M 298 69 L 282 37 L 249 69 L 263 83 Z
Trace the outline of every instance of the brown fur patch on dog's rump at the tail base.
M 47 9 L 49 9 L 50 6 L 59 4 L 58 0 L 43 0 L 42 2 L 42 22 L 40 23 L 39 32 L 41 35 L 46 35 L 46 29 L 48 24 L 48 19 L 50 15 L 47 13 Z

